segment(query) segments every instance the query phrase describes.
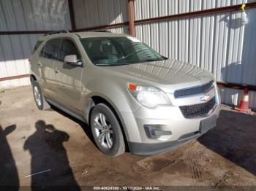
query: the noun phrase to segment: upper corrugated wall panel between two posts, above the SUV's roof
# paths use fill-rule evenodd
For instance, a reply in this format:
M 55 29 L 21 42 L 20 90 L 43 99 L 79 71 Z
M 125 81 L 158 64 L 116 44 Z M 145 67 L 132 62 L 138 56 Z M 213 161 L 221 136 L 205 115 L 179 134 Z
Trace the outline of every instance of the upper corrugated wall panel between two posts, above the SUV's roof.
M 124 23 L 128 20 L 127 0 L 76 0 L 73 6 L 77 29 Z

